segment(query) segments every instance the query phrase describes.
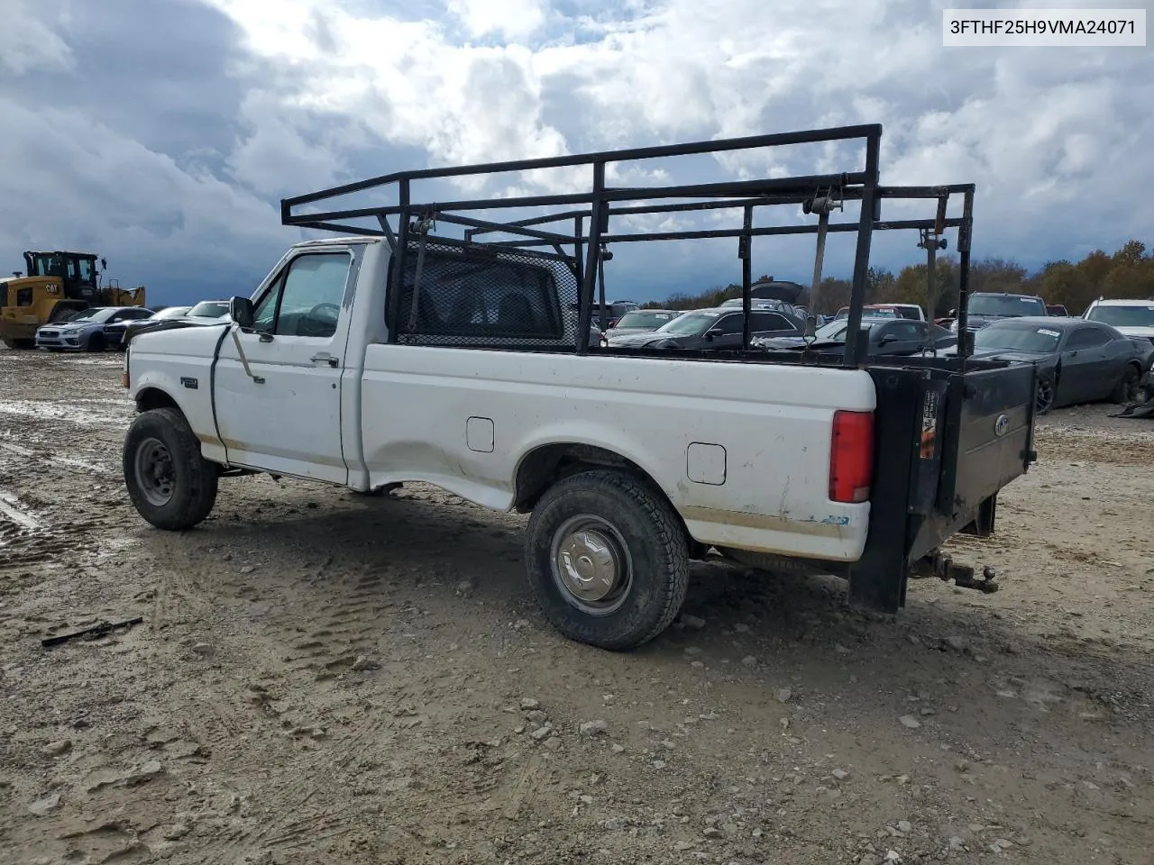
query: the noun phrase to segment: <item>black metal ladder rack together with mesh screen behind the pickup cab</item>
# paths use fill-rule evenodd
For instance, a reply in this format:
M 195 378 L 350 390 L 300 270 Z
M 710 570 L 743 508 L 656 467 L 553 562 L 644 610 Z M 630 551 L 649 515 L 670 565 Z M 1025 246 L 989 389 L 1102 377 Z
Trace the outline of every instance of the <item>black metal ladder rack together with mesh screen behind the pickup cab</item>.
M 934 359 L 935 366 L 964 371 L 971 345 L 965 339 L 966 300 L 969 283 L 969 246 L 973 224 L 974 185 L 882 186 L 878 182 L 881 125 L 848 126 L 804 131 L 757 135 L 689 144 L 670 144 L 561 156 L 545 159 L 490 163 L 447 168 L 397 172 L 380 178 L 346 183 L 282 201 L 282 221 L 288 226 L 317 228 L 345 234 L 383 236 L 394 251 L 389 292 L 389 340 L 434 345 L 493 344 L 532 348 L 598 351 L 587 334 L 594 308 L 605 315 L 605 262 L 612 258 L 608 247 L 661 240 L 733 238 L 742 262 L 742 288 L 745 325 L 742 346 L 750 347 L 752 285 L 752 239 L 786 234 L 817 235 L 810 309 L 814 310 L 822 285 L 825 241 L 830 233 L 856 232 L 848 332 L 861 330 L 862 308 L 867 302 L 870 242 L 875 231 L 911 230 L 921 232 L 919 247 L 927 249 L 932 265 L 934 251 L 944 247 L 946 230 L 957 230 L 954 249 L 959 256 L 958 332 L 962 344 L 956 358 Z M 674 186 L 613 187 L 606 183 L 606 166 L 613 163 L 733 153 L 758 148 L 811 144 L 816 149 L 831 143 L 863 145 L 862 164 L 854 171 L 788 178 L 759 178 L 727 182 Z M 454 179 L 484 181 L 486 175 L 544 170 L 587 167 L 587 186 L 580 191 L 548 195 L 519 195 L 457 201 L 414 201 L 418 181 Z M 321 210 L 330 202 L 354 194 L 385 194 L 396 203 Z M 947 216 L 951 200 L 961 198 L 961 215 Z M 932 217 L 926 219 L 882 219 L 883 200 L 927 200 L 936 202 Z M 860 202 L 856 220 L 831 221 L 833 211 L 845 202 Z M 759 208 L 800 206 L 804 223 L 755 226 Z M 331 205 L 330 205 L 331 206 Z M 542 212 L 512 220 L 481 219 L 478 211 L 537 209 Z M 685 211 L 736 211 L 733 227 L 694 231 L 629 232 L 614 230 L 613 217 L 672 215 Z M 394 218 L 396 227 L 394 227 Z M 353 221 L 357 220 L 357 221 Z M 360 220 L 370 220 L 364 225 Z M 739 223 L 740 220 L 740 223 Z M 620 221 L 620 220 L 619 220 Z M 432 233 L 437 224 L 459 226 L 463 238 Z M 627 226 L 628 227 L 628 226 Z M 484 238 L 484 240 L 481 239 Z M 503 238 L 503 239 L 502 239 Z M 499 272 L 495 272 L 499 271 Z M 932 266 L 930 269 L 932 273 Z M 478 277 L 478 274 L 482 274 Z M 470 278 L 492 283 L 515 280 L 518 293 L 505 308 L 478 310 L 472 306 L 454 311 L 452 303 L 440 304 L 436 296 L 422 292 L 422 284 L 465 285 Z M 435 283 L 440 280 L 440 283 Z M 552 280 L 552 281 L 550 281 Z M 932 280 L 930 280 L 932 283 Z M 503 284 L 503 283 L 502 283 Z M 598 292 L 600 296 L 598 298 Z M 494 303 L 489 302 L 489 307 Z M 497 304 L 500 306 L 500 304 Z M 460 309 L 464 311 L 459 311 Z M 577 309 L 576 322 L 565 324 L 565 313 Z M 932 319 L 932 298 L 929 317 Z M 493 322 L 501 328 L 488 328 Z M 508 326 L 509 322 L 532 321 L 532 326 Z M 601 322 L 605 326 L 605 322 Z M 814 322 L 810 319 L 812 330 Z M 493 334 L 500 336 L 493 336 Z M 744 352 L 749 354 L 748 351 Z M 711 353 L 714 356 L 715 353 Z M 809 353 L 781 353 L 799 355 Z M 762 359 L 766 352 L 757 352 Z M 847 339 L 840 363 L 857 367 L 864 360 L 862 340 Z

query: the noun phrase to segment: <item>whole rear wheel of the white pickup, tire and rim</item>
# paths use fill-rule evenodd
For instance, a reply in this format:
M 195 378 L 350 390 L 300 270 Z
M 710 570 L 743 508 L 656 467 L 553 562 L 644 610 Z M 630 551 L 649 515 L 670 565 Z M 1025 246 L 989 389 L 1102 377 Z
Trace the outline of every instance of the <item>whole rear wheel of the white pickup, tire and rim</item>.
M 612 469 L 570 475 L 541 497 L 525 561 L 553 626 L 615 652 L 665 631 L 689 587 L 689 539 L 676 512 L 650 484 Z

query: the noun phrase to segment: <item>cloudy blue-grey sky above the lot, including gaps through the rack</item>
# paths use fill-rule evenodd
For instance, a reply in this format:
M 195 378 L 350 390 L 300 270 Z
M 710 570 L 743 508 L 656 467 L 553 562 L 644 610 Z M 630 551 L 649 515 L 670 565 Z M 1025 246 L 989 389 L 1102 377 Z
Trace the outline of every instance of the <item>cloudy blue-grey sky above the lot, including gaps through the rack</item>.
M 301 238 L 279 223 L 283 196 L 404 168 L 860 122 L 884 125 L 883 182 L 977 183 L 979 257 L 1035 266 L 1130 238 L 1154 246 L 1152 48 L 947 50 L 945 5 L 0 0 L 0 268 L 21 268 L 27 248 L 82 248 L 156 303 L 248 294 Z M 1014 3 L 1095 5 L 1152 7 Z M 857 163 L 790 149 L 619 176 Z M 827 274 L 847 274 L 848 241 L 831 241 Z M 916 263 L 915 243 L 885 238 L 874 262 Z M 612 295 L 740 278 L 732 241 L 653 246 L 615 260 Z M 805 281 L 811 255 L 811 240 L 759 240 L 755 273 Z

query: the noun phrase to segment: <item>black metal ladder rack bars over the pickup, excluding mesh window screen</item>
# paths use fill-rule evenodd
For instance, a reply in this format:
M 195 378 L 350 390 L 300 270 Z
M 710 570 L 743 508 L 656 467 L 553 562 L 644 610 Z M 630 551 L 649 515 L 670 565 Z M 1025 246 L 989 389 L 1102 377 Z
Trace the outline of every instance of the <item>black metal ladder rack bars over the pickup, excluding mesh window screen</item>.
M 287 226 L 316 228 L 328 232 L 355 235 L 384 236 L 394 253 L 392 279 L 397 286 L 404 285 L 407 258 L 418 256 L 415 283 L 412 291 L 411 310 L 406 310 L 410 322 L 417 321 L 419 302 L 418 286 L 425 266 L 426 243 L 435 243 L 441 250 L 465 250 L 472 255 L 516 255 L 519 261 L 537 258 L 562 261 L 576 279 L 579 323 L 577 334 L 585 334 L 592 324 L 594 293 L 600 276 L 600 309 L 605 310 L 604 264 L 612 254 L 609 243 L 637 243 L 662 240 L 699 240 L 729 238 L 739 241 L 739 257 L 742 260 L 742 296 L 745 317 L 743 347 L 750 344 L 751 310 L 751 241 L 754 238 L 816 234 L 814 283 L 810 308 L 816 306 L 820 286 L 825 239 L 830 233 L 855 232 L 856 248 L 852 291 L 848 310 L 848 333 L 861 329 L 862 310 L 865 303 L 865 283 L 869 255 L 875 231 L 919 231 L 923 239 L 938 239 L 946 230 L 957 230 L 956 249 L 959 254 L 958 332 L 966 334 L 966 300 L 969 284 L 969 245 L 973 228 L 973 183 L 944 186 L 882 186 L 879 182 L 878 157 L 882 126 L 862 125 L 827 129 L 809 129 L 777 133 L 741 138 L 692 142 L 661 146 L 635 148 L 601 151 L 545 159 L 522 159 L 516 161 L 488 163 L 482 165 L 422 168 L 396 172 L 369 180 L 322 189 L 320 191 L 285 198 L 280 202 L 282 223 Z M 795 144 L 827 144 L 831 142 L 857 142 L 864 144 L 864 166 L 856 171 L 837 174 L 814 174 L 792 178 L 760 178 L 755 180 L 681 183 L 652 187 L 610 187 L 606 185 L 606 166 L 610 163 L 632 163 L 646 159 L 664 159 L 687 156 L 717 156 L 758 148 L 777 148 Z M 519 195 L 509 197 L 467 198 L 442 202 L 414 202 L 413 183 L 426 180 L 449 180 L 480 178 L 486 175 L 531 172 L 548 168 L 589 167 L 592 172 L 586 191 L 555 195 Z M 357 193 L 396 190 L 396 204 L 362 206 L 343 210 L 316 211 L 322 202 Z M 961 215 L 949 217 L 947 210 L 954 196 L 962 200 Z M 683 201 L 700 198 L 700 201 Z M 677 200 L 677 201 L 673 201 Z M 937 211 L 927 219 L 897 219 L 885 221 L 881 215 L 883 200 L 932 200 Z M 856 220 L 830 221 L 833 210 L 840 210 L 844 202 L 860 202 Z M 795 224 L 755 227 L 754 213 L 759 208 L 774 205 L 801 205 L 807 216 L 816 216 L 816 224 Z M 307 208 L 313 212 L 306 212 Z M 522 219 L 481 219 L 475 211 L 510 210 L 518 208 L 556 208 L 555 212 Z M 610 231 L 614 216 L 639 216 L 692 211 L 741 211 L 740 226 L 732 228 L 630 232 Z M 394 228 L 391 217 L 397 217 Z M 349 220 L 372 218 L 377 227 L 352 225 Z M 441 238 L 429 233 L 430 225 L 441 221 L 463 227 L 464 240 Z M 571 227 L 570 227 L 571 226 Z M 512 240 L 484 240 L 485 235 L 503 234 Z M 553 253 L 545 251 L 552 248 Z M 400 309 L 402 291 L 392 291 L 390 296 L 389 339 L 398 341 L 403 318 Z M 929 310 L 932 318 L 932 309 Z M 575 351 L 585 354 L 587 340 L 576 339 Z M 861 346 L 855 339 L 847 339 L 842 358 L 844 366 L 856 367 L 861 360 Z M 971 346 L 959 345 L 958 358 L 964 371 Z

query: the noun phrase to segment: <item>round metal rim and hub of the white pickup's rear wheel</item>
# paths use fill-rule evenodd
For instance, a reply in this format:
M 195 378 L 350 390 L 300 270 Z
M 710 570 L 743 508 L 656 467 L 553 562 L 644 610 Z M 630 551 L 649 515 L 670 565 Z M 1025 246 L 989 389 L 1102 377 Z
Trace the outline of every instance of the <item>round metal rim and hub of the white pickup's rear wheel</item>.
M 590 616 L 620 610 L 634 585 L 624 537 L 608 520 L 587 513 L 570 517 L 553 533 L 549 571 L 565 602 Z

